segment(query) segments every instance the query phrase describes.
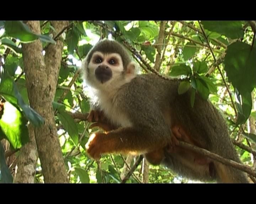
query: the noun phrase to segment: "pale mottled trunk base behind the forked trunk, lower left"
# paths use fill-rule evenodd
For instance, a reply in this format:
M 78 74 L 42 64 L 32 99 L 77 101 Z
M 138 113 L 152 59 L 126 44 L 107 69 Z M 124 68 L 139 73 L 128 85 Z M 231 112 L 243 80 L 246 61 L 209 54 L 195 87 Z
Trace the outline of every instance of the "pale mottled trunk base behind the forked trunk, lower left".
M 30 141 L 21 147 L 17 157 L 17 172 L 14 183 L 34 183 L 38 154 L 34 129 L 31 124 L 28 125 L 28 133 Z

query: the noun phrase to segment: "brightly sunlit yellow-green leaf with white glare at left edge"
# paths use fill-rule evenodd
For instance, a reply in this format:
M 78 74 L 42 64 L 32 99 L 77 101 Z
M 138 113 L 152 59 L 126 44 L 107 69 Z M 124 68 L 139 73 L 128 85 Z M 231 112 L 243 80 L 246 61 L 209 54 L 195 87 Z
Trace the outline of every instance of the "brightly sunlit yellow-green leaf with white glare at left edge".
M 21 148 L 29 140 L 27 120 L 15 106 L 7 101 L 4 103 L 3 109 L 4 113 L 0 119 L 0 133 L 5 135 L 13 148 Z

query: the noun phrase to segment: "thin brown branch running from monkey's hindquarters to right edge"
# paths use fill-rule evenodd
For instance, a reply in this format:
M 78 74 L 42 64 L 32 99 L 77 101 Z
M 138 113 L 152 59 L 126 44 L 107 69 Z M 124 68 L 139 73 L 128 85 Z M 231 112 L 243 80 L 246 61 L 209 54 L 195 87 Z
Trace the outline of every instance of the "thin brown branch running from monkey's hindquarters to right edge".
M 182 141 L 179 141 L 178 146 L 186 148 L 186 149 L 190 149 L 190 150 L 192 150 L 192 151 L 194 151 L 196 153 L 199 153 L 199 154 L 207 156 L 207 157 L 209 157 L 211 159 L 214 159 L 214 160 L 216 160 L 216 161 L 218 161 L 218 162 L 220 162 L 222 164 L 232 166 L 232 167 L 234 167 L 236 169 L 239 169 L 241 171 L 247 172 L 248 174 L 256 176 L 255 170 L 251 169 L 249 166 L 240 164 L 240 163 L 235 162 L 235 161 L 230 160 L 230 159 L 223 158 L 223 157 L 219 156 L 218 154 L 214 154 L 212 152 L 209 152 L 206 149 L 202 149 L 202 148 L 190 145 L 189 143 L 182 142 Z

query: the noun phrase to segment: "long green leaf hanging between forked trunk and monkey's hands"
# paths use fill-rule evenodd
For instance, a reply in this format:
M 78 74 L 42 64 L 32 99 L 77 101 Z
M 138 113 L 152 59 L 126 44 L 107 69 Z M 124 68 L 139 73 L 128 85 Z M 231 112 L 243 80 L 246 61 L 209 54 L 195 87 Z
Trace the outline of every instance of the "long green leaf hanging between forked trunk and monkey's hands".
M 57 113 L 57 115 L 60 119 L 60 122 L 64 126 L 65 130 L 68 132 L 68 134 L 71 137 L 71 139 L 73 140 L 74 144 L 78 145 L 78 140 L 79 140 L 78 127 L 76 126 L 74 119 L 71 117 L 71 115 L 69 115 L 62 109 L 60 109 L 58 111 L 59 112 Z

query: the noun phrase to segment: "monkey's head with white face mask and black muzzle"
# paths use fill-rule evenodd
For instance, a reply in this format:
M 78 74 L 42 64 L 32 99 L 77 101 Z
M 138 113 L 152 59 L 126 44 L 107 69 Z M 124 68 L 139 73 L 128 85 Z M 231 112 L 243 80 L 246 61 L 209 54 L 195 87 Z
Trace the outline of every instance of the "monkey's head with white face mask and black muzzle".
M 124 47 L 114 40 L 101 40 L 82 61 L 84 79 L 88 85 L 111 91 L 135 77 L 135 63 Z

